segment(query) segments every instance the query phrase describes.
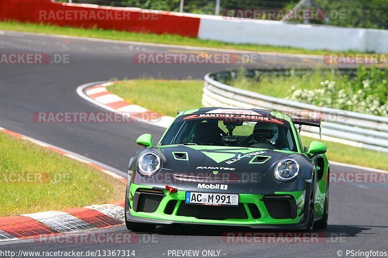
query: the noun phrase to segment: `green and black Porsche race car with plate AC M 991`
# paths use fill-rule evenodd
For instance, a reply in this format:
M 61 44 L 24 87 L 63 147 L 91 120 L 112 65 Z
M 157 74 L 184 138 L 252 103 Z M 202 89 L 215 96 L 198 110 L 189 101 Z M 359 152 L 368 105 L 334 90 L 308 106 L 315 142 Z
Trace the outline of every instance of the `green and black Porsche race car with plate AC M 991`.
M 326 147 L 319 141 L 304 147 L 295 124 L 320 127 L 320 120 L 199 108 L 179 112 L 157 145 L 151 135 L 140 136 L 137 143 L 145 148 L 129 161 L 127 228 L 325 228 Z

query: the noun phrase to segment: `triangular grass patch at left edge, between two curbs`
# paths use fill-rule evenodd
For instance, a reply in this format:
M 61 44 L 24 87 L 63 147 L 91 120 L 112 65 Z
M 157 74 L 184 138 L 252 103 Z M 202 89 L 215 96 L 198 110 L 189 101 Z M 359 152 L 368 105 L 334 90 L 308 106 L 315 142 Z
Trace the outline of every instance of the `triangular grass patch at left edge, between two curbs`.
M 20 177 L 26 173 L 32 178 Z M 124 182 L 0 132 L 0 216 L 102 204 L 121 200 L 124 193 Z

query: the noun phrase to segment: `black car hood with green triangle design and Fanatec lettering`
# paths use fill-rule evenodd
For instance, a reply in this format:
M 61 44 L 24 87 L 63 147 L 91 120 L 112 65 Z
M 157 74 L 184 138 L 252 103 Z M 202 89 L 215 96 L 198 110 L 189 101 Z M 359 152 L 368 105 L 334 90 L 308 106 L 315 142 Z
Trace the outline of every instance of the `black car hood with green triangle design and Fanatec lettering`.
M 269 149 L 199 145 L 161 146 L 166 161 L 176 175 L 242 179 L 244 174 L 263 173 L 279 159 L 290 156 L 285 151 Z

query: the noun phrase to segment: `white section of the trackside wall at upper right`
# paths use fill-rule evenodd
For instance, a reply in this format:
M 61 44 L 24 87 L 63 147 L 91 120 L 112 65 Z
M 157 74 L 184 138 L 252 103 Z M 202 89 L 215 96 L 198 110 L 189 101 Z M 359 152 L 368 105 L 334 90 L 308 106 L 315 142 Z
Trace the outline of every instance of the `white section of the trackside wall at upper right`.
M 291 46 L 330 51 L 388 51 L 388 30 L 290 24 L 200 15 L 198 37 L 228 43 Z

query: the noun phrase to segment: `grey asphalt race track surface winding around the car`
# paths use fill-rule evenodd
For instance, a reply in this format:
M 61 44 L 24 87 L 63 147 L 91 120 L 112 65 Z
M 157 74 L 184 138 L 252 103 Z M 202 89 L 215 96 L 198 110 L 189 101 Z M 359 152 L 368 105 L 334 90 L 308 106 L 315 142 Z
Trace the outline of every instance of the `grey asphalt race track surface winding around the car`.
M 40 111 L 103 111 L 77 95 L 76 88 L 87 82 L 142 76 L 201 79 L 210 71 L 231 67 L 220 64 L 140 65 L 132 61 L 132 56 L 139 52 L 188 51 L 198 50 L 0 31 L 1 53 L 62 53 L 69 54 L 70 61 L 67 64 L 1 64 L 0 126 L 126 171 L 128 158 L 139 149 L 135 144 L 136 137 L 150 132 L 158 140 L 162 128 L 140 122 L 38 123 L 32 121 L 32 114 Z M 316 58 L 262 54 L 258 64 L 249 66 L 314 66 L 321 62 Z M 331 170 L 356 169 L 332 165 Z M 251 230 L 168 226 L 157 228 L 152 234 L 153 243 L 148 241 L 149 235 L 139 234 L 140 241 L 133 244 L 48 244 L 22 240 L 1 243 L 0 250 L 135 250 L 136 257 L 172 257 L 168 256 L 168 250 L 220 250 L 220 257 L 337 257 L 341 250 L 345 257 L 346 250 L 388 251 L 387 196 L 388 188 L 384 183 L 331 184 L 330 225 L 319 232 L 333 237 L 321 237 L 320 243 L 225 243 L 221 238 L 224 232 Z M 99 232 L 128 231 L 125 227 L 117 227 Z

